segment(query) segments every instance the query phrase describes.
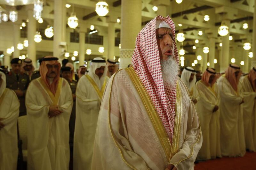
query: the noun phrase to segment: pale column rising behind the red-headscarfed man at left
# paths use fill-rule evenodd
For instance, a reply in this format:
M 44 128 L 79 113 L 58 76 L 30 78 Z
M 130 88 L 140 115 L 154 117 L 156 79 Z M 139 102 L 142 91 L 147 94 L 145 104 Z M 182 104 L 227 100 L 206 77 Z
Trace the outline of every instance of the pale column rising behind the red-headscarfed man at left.
M 58 0 L 58 1 L 54 1 L 54 24 L 53 24 L 53 29 L 54 29 L 54 36 L 53 36 L 53 56 L 58 57 L 60 59 L 63 59 L 63 57 L 61 56 L 61 48 L 59 46 L 60 42 L 63 41 L 63 38 L 65 38 L 64 33 L 66 33 L 66 31 L 63 30 L 64 26 L 63 24 L 65 24 L 66 26 L 66 22 L 64 23 L 64 19 L 63 19 L 63 9 L 65 9 L 65 4 L 64 4 L 65 0 Z M 66 10 L 66 9 L 65 9 Z M 66 16 L 66 14 L 65 14 Z

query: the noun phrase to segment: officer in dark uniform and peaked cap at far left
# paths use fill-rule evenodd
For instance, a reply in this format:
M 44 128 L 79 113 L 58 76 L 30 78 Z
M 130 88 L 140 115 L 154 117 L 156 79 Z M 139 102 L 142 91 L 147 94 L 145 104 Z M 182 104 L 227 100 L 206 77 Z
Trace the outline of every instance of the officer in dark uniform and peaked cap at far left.
M 22 60 L 13 58 L 12 70 L 6 75 L 6 87 L 12 89 L 20 100 L 20 116 L 26 115 L 25 94 L 29 84 L 29 76 L 21 73 Z

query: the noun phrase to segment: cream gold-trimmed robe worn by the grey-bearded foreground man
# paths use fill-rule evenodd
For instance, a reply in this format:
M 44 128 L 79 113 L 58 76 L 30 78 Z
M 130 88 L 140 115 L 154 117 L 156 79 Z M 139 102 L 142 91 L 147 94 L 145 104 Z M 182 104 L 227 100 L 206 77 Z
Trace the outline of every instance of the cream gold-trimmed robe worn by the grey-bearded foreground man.
M 137 80 L 140 82 L 139 78 Z M 135 87 L 125 70 L 114 74 L 108 82 L 100 107 L 92 170 L 164 170 L 169 163 L 178 170 L 193 169 L 202 144 L 202 135 L 196 109 L 187 88 L 181 80 L 178 84 L 180 91 L 177 96 L 180 100 L 176 104 L 176 110 L 179 111 L 176 112 L 177 124 L 174 125 L 174 134 L 177 136 L 174 135 L 173 143 L 168 144 L 169 138 L 154 105 L 145 103 L 147 94 L 141 96 L 139 92 L 142 90 L 137 89 L 143 88 L 143 85 Z M 160 122 L 159 126 L 154 126 L 152 121 Z M 162 131 L 158 131 L 161 127 Z M 165 132 L 165 136 L 161 132 Z M 171 159 L 166 153 L 169 145 L 177 149 Z

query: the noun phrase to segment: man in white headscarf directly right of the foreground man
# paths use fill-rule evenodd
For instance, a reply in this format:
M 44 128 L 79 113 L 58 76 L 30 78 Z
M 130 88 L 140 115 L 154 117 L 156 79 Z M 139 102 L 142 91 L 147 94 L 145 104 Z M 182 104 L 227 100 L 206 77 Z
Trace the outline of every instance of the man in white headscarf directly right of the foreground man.
M 186 67 L 182 73 L 181 73 L 181 80 L 184 82 L 184 84 L 187 86 L 189 90 L 189 94 L 194 102 L 199 100 L 199 95 L 196 90 L 195 84 L 196 84 L 196 71 L 192 67 Z

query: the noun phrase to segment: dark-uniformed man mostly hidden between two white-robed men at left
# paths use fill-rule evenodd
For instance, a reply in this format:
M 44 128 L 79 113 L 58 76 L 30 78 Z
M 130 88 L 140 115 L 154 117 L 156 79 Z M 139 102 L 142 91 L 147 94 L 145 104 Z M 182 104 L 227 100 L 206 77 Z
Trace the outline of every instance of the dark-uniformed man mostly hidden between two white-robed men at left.
M 61 77 L 65 78 L 70 85 L 72 96 L 73 96 L 73 107 L 69 119 L 69 147 L 70 147 L 70 161 L 69 166 L 73 167 L 73 141 L 76 121 L 76 81 L 70 79 L 71 67 L 61 67 Z

